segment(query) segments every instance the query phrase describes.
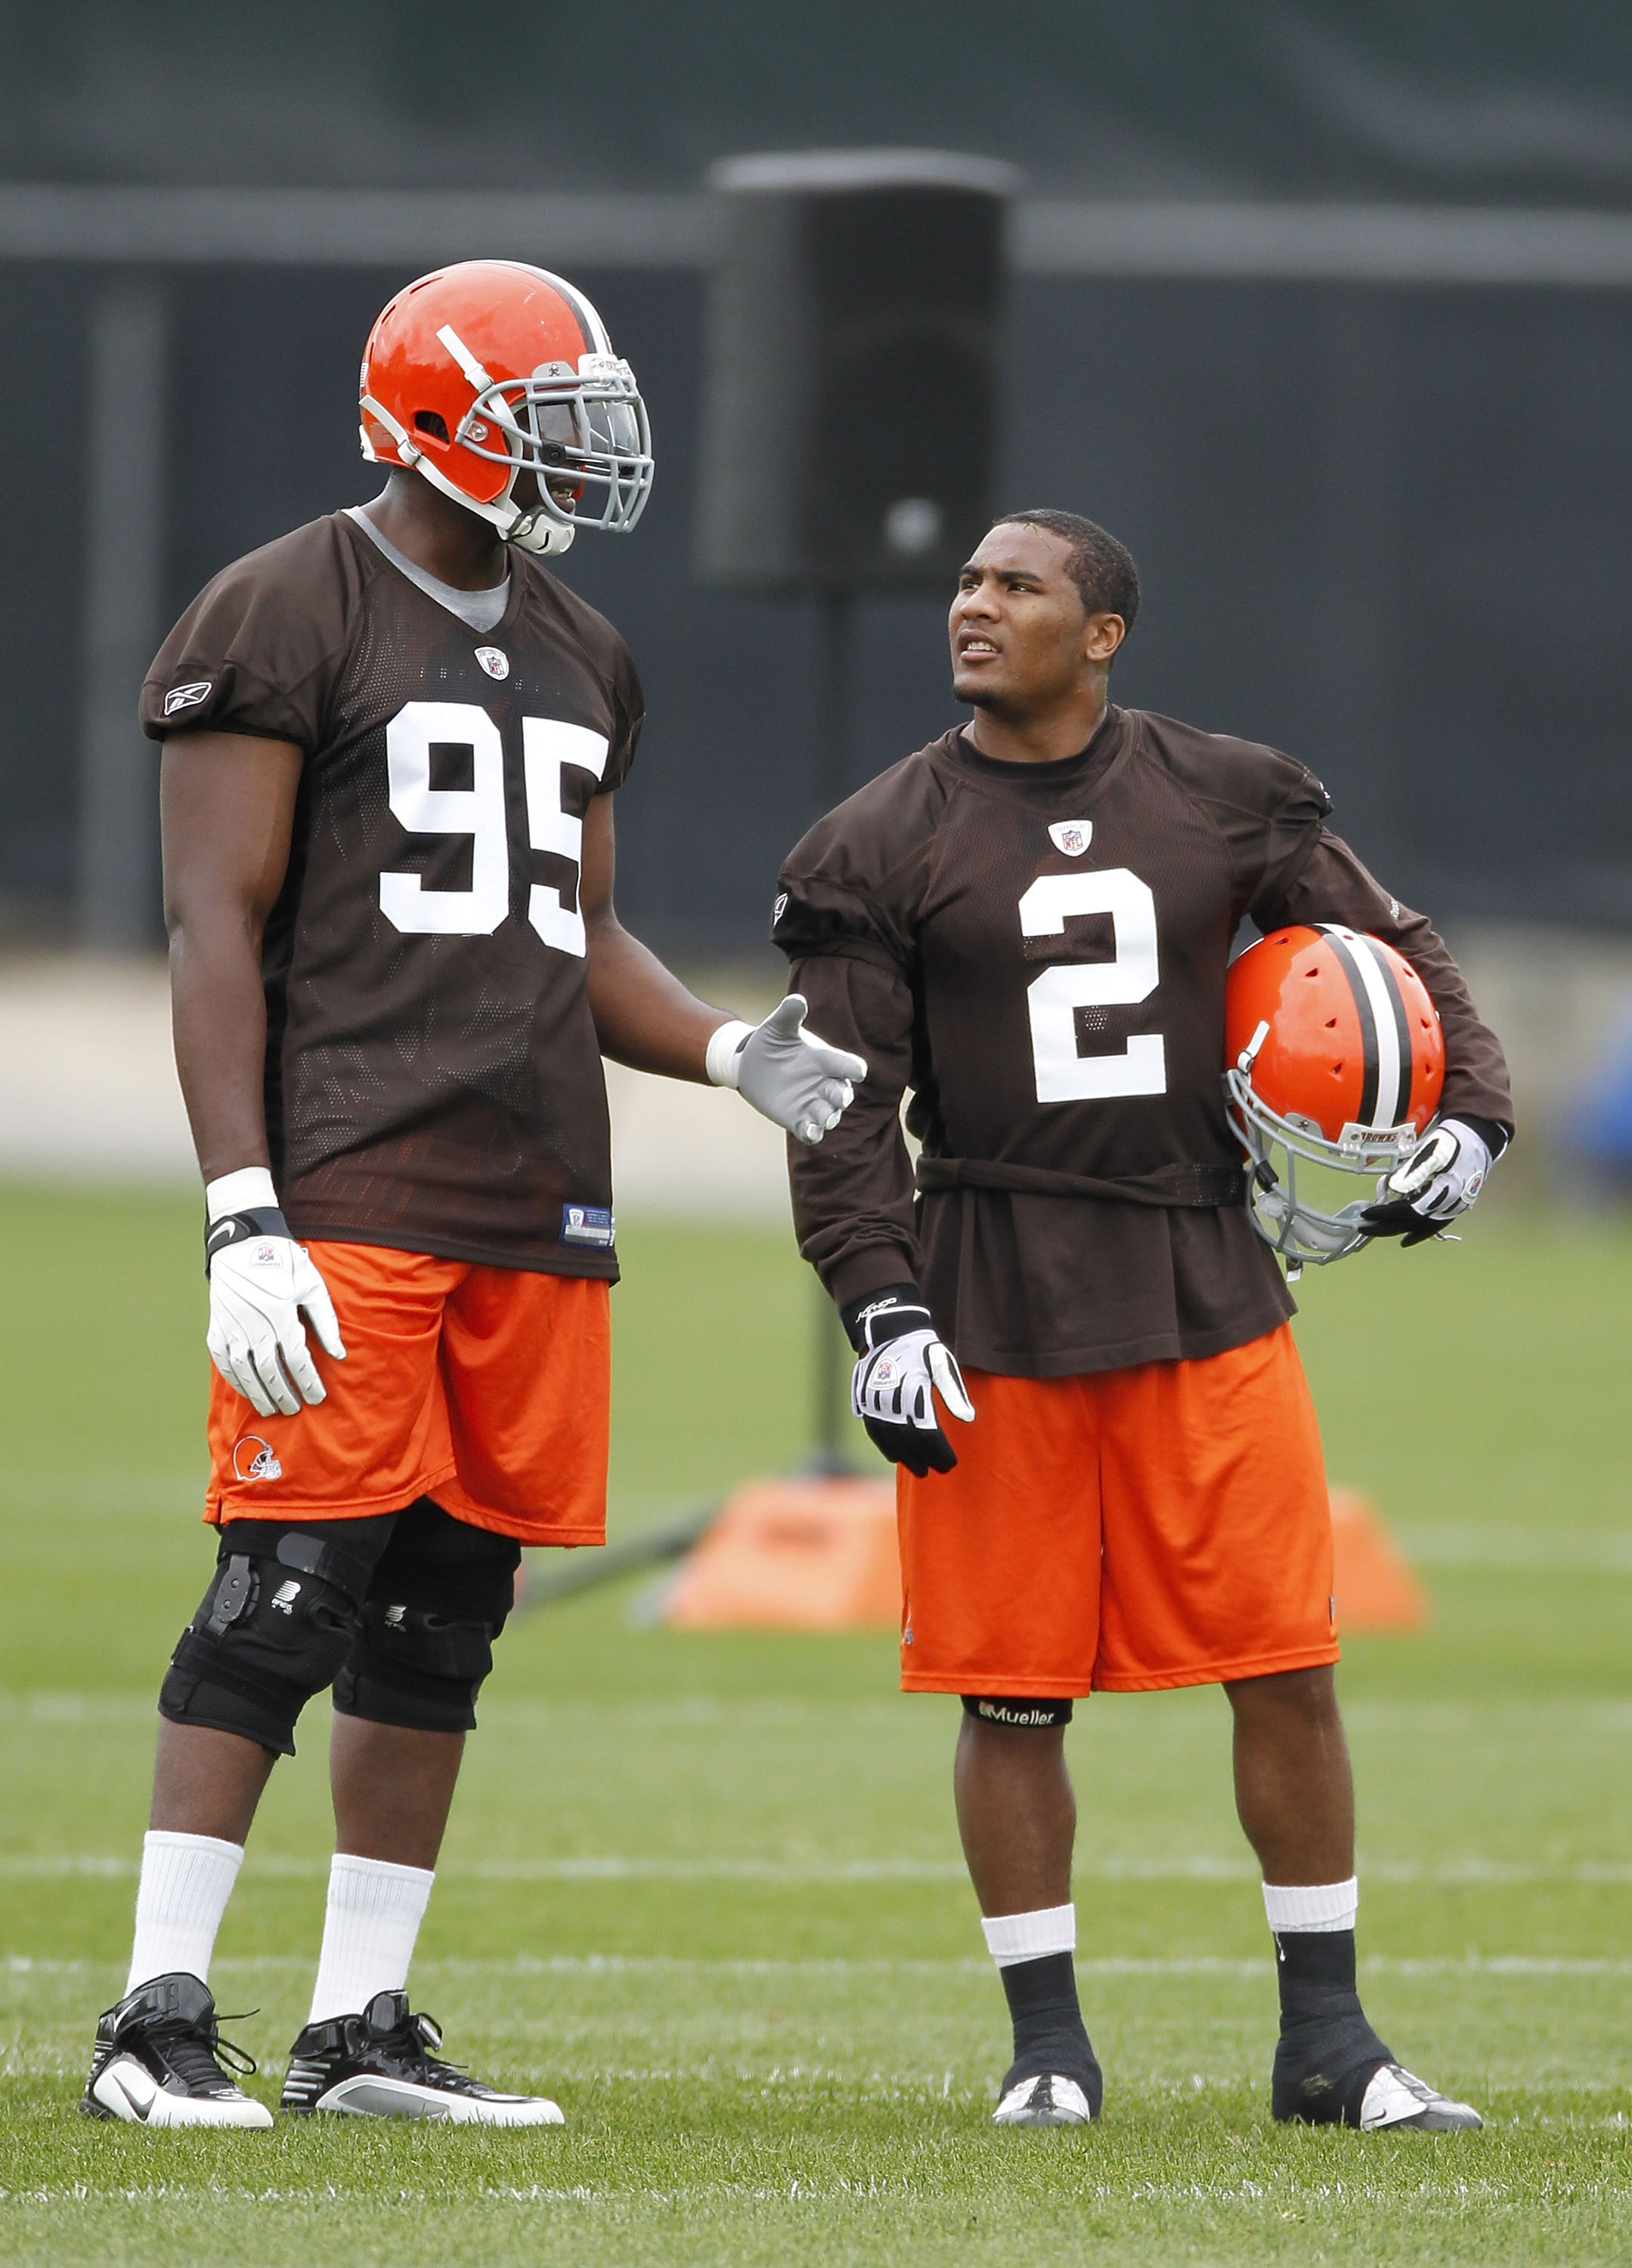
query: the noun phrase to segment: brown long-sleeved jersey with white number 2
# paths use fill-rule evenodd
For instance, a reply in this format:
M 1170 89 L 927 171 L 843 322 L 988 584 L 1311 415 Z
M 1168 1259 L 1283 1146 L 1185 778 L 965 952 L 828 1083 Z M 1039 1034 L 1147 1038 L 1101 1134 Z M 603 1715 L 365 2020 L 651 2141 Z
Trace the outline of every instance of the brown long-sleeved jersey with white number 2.
M 1444 1111 L 1512 1125 L 1451 955 L 1328 810 L 1274 748 L 1111 708 L 1059 764 L 947 733 L 811 828 L 773 937 L 811 1027 L 870 1066 L 821 1148 L 789 1145 L 841 1306 L 913 1279 L 961 1361 L 1015 1377 L 1217 1354 L 1290 1315 L 1224 1120 L 1242 916 L 1399 946 L 1444 1023 Z

